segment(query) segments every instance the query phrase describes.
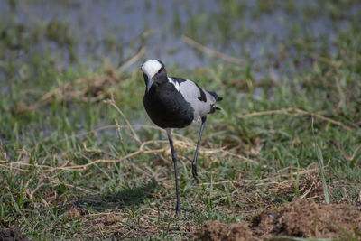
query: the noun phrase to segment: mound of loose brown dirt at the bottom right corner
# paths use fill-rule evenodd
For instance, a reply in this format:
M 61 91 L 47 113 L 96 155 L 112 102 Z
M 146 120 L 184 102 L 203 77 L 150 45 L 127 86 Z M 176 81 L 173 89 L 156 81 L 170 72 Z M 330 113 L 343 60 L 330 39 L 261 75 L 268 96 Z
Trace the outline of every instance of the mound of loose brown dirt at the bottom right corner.
M 273 236 L 344 240 L 353 237 L 358 240 L 361 237 L 361 208 L 298 200 L 282 205 L 280 209 L 265 209 L 248 223 L 227 225 L 208 221 L 199 230 L 202 240 L 263 240 Z

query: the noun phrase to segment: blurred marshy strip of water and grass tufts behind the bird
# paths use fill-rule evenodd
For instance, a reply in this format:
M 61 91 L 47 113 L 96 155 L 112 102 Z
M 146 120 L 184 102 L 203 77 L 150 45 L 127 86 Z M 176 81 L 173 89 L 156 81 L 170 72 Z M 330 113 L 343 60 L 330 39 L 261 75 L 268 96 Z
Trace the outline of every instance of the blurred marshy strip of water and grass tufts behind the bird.
M 262 79 L 310 67 L 310 52 L 332 55 L 335 32 L 359 19 L 360 2 L 330 1 L 3 1 L 2 59 L 51 55 L 58 68 L 114 66 L 134 56 L 192 69 L 222 61 L 195 42 L 245 60 Z M 146 34 L 145 41 L 140 36 Z M 138 67 L 140 62 L 132 66 Z M 131 69 L 134 70 L 134 69 Z

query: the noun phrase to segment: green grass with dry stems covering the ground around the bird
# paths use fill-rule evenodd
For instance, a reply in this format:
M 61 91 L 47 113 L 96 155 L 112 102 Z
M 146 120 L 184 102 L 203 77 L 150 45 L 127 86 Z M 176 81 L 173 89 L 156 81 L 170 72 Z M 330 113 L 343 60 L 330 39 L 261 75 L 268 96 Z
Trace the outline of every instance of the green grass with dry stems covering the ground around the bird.
M 272 3 L 259 1 L 252 17 L 275 11 Z M 82 64 L 69 23 L 27 26 L 2 19 L 0 227 L 18 227 L 36 240 L 180 239 L 192 237 L 192 230 L 208 219 L 247 220 L 257 210 L 296 198 L 324 202 L 326 188 L 330 202 L 358 204 L 359 16 L 349 16 L 347 30 L 338 27 L 347 17 L 343 10 L 352 4 L 326 4 L 335 28 L 330 39 L 315 39 L 300 25 L 287 23 L 292 34 L 277 45 L 280 56 L 261 50 L 257 58 L 263 61 L 256 62 L 245 48 L 243 66 L 211 61 L 192 70 L 168 67 L 172 75 L 197 79 L 199 86 L 217 89 L 224 97 L 222 111 L 208 117 L 199 149 L 199 182 L 192 179 L 185 158 L 194 153 L 199 126 L 175 131 L 180 201 L 192 210 L 179 217 L 172 211 L 171 153 L 164 131 L 143 110 L 139 70 L 119 72 L 106 60 L 96 68 Z M 227 1 L 222 7 L 211 21 L 200 15 L 175 24 L 203 43 L 211 38 L 211 24 L 219 50 L 227 45 L 224 36 L 238 42 L 264 37 L 243 23 L 238 32 L 229 24 L 242 19 L 250 6 Z M 298 11 L 297 5 L 282 7 Z M 317 17 L 317 9 L 309 8 L 301 11 L 305 24 Z M 227 9 L 231 14 L 218 21 Z M 195 29 L 196 23 L 201 27 Z M 67 52 L 69 65 L 59 63 L 59 52 L 32 50 L 40 40 Z M 268 49 L 274 39 L 265 40 L 263 49 Z M 19 50 L 25 59 L 18 59 Z M 266 70 L 263 77 L 255 77 L 257 69 Z

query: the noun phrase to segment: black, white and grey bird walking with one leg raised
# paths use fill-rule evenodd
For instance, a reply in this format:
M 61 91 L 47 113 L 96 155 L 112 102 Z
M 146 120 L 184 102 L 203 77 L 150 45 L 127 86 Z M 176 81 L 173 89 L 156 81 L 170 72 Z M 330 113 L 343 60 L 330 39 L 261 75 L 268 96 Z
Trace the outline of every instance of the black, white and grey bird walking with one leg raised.
M 216 92 L 200 88 L 190 79 L 169 77 L 161 60 L 146 60 L 141 70 L 145 82 L 143 106 L 153 123 L 166 130 L 171 147 L 177 198 L 175 211 L 178 215 L 182 209 L 178 185 L 178 158 L 171 138 L 171 129 L 184 128 L 201 121 L 198 143 L 191 162 L 192 175 L 198 180 L 197 156 L 207 115 L 220 109 L 215 104 L 222 100 L 222 97 L 218 97 Z

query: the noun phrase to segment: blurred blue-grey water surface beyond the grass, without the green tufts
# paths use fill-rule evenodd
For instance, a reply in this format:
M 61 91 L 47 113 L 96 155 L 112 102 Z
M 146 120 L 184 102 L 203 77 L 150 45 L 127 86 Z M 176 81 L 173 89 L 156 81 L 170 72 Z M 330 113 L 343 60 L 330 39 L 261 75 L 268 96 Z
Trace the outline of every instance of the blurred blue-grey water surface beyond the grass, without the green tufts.
M 3 1 L 0 5 L 2 16 L 9 13 L 12 2 Z M 280 2 L 275 1 L 273 3 L 278 3 L 274 5 L 275 9 L 261 14 L 254 14 L 254 10 L 259 8 L 257 6 L 260 5 L 259 1 L 240 1 L 237 5 L 243 7 L 239 17 L 230 18 L 231 21 L 228 20 L 225 28 L 231 30 L 235 27 L 239 28 L 239 32 L 244 31 L 245 36 L 242 38 L 233 38 L 233 35 L 224 36 L 227 40 L 220 43 L 218 39 L 219 35 L 220 38 L 223 37 L 222 32 L 212 29 L 212 23 L 222 21 L 223 16 L 227 17 L 228 10 L 225 5 L 230 5 L 230 2 L 232 1 L 28 0 L 15 2 L 14 15 L 16 21 L 27 26 L 51 23 L 51 21 L 68 23 L 71 35 L 77 41 L 74 51 L 83 64 L 93 67 L 101 64 L 102 56 L 106 56 L 114 65 L 119 60 L 133 56 L 140 44 L 139 41 L 134 41 L 134 38 L 150 29 L 156 32 L 146 39 L 147 51 L 144 59 L 157 58 L 168 66 L 180 65 L 183 68 L 205 66 L 217 60 L 199 54 L 180 40 L 181 34 L 189 35 L 190 29 L 193 28 L 196 30 L 195 34 L 199 34 L 199 39 L 204 37 L 203 41 L 200 40 L 203 44 L 240 59 L 247 58 L 252 61 L 253 67 L 257 64 L 263 65 L 264 60 L 269 64 L 269 60 L 274 59 L 284 61 L 281 66 L 277 63 L 277 68 L 292 71 L 296 67 L 285 60 L 279 60 L 281 58 L 279 55 L 280 46 L 292 38 L 294 29 L 299 29 L 305 37 L 316 40 L 323 37 L 323 40 L 319 41 L 319 47 L 326 46 L 329 53 L 335 50 L 330 44 L 335 27 L 347 29 L 347 18 L 344 21 L 334 21 L 328 13 L 317 14 L 318 9 L 322 10 L 318 1 L 288 1 L 288 4 L 296 5 L 294 13 L 289 13 L 287 8 L 277 7 Z M 281 2 L 281 5 L 283 3 Z M 304 14 L 308 8 L 314 12 L 313 8 L 315 8 L 316 14 L 313 14 L 312 21 L 305 22 Z M 345 14 L 355 15 L 359 9 L 360 5 L 356 5 L 348 9 Z M 232 9 L 230 11 L 232 12 Z M 196 21 L 190 23 L 190 20 L 194 19 Z M 205 35 L 208 35 L 207 38 Z M 50 50 L 54 54 L 59 54 L 61 64 L 68 63 L 69 54 L 54 42 L 41 40 L 34 44 L 32 49 L 38 53 Z M 293 50 L 288 51 L 292 54 Z M 300 52 L 294 54 L 297 54 L 297 58 L 301 60 L 301 67 L 302 64 L 308 65 L 307 62 L 302 63 L 303 56 Z M 18 56 L 21 58 L 22 54 Z M 133 66 L 135 67 L 137 66 Z M 264 76 L 262 70 L 255 71 L 255 79 L 260 79 L 262 76 Z

